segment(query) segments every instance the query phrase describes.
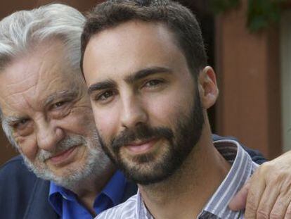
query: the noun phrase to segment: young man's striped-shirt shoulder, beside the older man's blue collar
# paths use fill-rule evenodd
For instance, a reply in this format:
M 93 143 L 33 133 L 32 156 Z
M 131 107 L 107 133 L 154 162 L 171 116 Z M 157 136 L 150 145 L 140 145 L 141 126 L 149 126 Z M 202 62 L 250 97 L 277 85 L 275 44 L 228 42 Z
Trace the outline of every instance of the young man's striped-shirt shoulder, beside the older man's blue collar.
M 97 219 L 134 219 L 138 218 L 136 215 L 137 195 L 131 196 L 122 204 L 104 211 L 98 215 Z

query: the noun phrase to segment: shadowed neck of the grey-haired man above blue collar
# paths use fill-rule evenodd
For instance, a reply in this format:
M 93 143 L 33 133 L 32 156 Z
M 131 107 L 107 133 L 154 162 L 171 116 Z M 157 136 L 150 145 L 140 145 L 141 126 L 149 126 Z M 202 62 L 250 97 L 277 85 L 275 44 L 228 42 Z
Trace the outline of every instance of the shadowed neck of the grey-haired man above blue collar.
M 112 175 L 115 173 L 116 168 L 110 163 L 103 175 L 96 177 L 89 177 L 79 182 L 76 187 L 72 188 L 72 192 L 75 192 L 77 199 L 93 216 L 96 216 L 96 212 L 93 208 L 96 196 L 100 194 L 105 185 L 108 183 Z

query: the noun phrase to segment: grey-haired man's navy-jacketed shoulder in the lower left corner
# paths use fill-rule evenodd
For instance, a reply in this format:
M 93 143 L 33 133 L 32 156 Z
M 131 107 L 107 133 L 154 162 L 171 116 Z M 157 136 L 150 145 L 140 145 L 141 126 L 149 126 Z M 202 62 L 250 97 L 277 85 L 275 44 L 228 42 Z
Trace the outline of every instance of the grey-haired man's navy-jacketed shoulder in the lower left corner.
M 32 206 L 32 201 L 46 200 L 47 197 L 41 195 L 41 199 L 37 199 L 35 194 L 45 194 L 49 182 L 37 178 L 23 162 L 21 156 L 16 156 L 6 162 L 0 168 L 0 211 L 1 218 L 18 219 L 25 218 L 27 209 Z M 41 192 L 36 192 L 42 189 Z M 29 217 L 36 218 L 36 217 Z M 46 217 L 44 217 L 46 218 Z

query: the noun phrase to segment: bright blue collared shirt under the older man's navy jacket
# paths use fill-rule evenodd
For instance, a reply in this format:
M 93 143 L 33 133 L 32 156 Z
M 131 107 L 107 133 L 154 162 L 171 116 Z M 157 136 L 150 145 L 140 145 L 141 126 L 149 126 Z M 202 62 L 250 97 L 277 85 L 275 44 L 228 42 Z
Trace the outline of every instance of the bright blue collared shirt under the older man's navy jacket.
M 127 180 L 123 173 L 117 170 L 94 201 L 93 208 L 97 215 L 112 206 L 120 204 L 126 184 Z M 53 182 L 51 182 L 48 202 L 63 219 L 93 218 L 91 213 L 79 203 L 74 192 L 60 187 Z

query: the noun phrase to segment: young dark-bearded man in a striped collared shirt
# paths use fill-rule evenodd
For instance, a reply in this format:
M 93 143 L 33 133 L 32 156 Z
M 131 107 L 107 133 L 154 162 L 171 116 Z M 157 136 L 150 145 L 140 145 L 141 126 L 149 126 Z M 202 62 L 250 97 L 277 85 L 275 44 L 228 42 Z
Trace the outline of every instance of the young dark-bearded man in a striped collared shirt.
M 96 6 L 81 64 L 101 146 L 139 188 L 97 218 L 244 218 L 228 203 L 257 165 L 238 142 L 212 142 L 216 76 L 187 8 L 167 0 Z M 271 218 L 290 217 L 289 201 L 276 204 L 284 212 Z

